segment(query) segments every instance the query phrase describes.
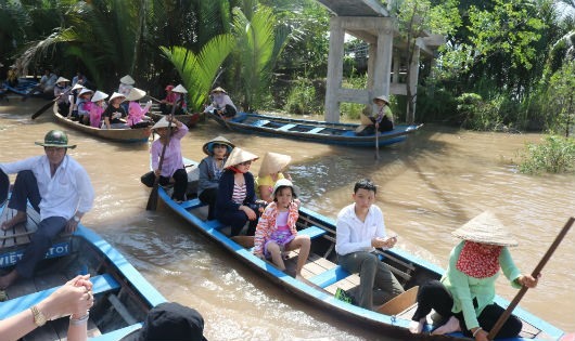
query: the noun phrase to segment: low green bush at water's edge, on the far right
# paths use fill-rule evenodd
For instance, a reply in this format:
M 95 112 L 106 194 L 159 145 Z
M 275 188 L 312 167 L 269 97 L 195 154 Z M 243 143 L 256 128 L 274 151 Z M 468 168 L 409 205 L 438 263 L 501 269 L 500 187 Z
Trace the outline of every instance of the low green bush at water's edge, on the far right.
M 575 140 L 547 135 L 541 144 L 527 144 L 519 170 L 527 174 L 574 172 Z

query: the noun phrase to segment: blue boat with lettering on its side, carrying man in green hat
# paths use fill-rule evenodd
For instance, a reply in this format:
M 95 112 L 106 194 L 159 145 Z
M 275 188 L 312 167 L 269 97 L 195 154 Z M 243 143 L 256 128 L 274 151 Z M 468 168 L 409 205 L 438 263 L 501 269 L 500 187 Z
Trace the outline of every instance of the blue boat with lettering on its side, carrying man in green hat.
M 5 205 L 1 205 L 0 210 L 0 223 L 15 214 Z M 14 266 L 37 229 L 39 214 L 31 208 L 27 213 L 25 224 L 0 231 L 0 273 Z M 95 301 L 88 320 L 91 340 L 120 340 L 141 328 L 150 309 L 166 302 L 114 247 L 93 231 L 79 225 L 76 233 L 54 240 L 34 278 L 18 278 L 5 290 L 8 301 L 0 302 L 0 319 L 31 307 L 78 274 L 90 274 L 93 283 Z M 51 320 L 23 340 L 66 340 L 66 319 Z

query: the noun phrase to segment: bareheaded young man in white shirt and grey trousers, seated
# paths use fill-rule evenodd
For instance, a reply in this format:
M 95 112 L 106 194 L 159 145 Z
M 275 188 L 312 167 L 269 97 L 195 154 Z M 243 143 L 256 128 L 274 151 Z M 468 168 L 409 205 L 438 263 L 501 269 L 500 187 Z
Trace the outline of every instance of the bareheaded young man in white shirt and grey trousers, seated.
M 359 273 L 359 292 L 354 294 L 358 304 L 373 310 L 373 298 L 383 304 L 404 288 L 392 272 L 374 253 L 375 248 L 391 249 L 397 237 L 385 237 L 383 213 L 375 201 L 375 185 L 367 180 L 354 186 L 354 204 L 337 214 L 335 251 L 340 265 L 349 273 Z

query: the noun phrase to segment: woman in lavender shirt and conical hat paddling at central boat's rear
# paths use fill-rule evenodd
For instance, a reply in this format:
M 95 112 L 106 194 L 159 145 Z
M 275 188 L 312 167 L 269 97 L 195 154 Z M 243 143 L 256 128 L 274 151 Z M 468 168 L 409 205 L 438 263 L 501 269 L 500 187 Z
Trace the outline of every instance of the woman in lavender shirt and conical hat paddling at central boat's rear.
M 169 129 L 174 129 L 174 131 L 168 137 Z M 150 149 L 152 169 L 155 175 L 159 176 L 158 183 L 162 186 L 174 183 L 171 198 L 176 202 L 181 202 L 186 200 L 186 189 L 188 188 L 188 173 L 183 168 L 181 156 L 181 139 L 188 133 L 188 127 L 171 116 L 165 116 L 152 127 L 152 131 L 159 135 L 159 139 L 152 143 Z M 162 165 L 159 165 L 164 146 L 166 146 L 166 150 Z

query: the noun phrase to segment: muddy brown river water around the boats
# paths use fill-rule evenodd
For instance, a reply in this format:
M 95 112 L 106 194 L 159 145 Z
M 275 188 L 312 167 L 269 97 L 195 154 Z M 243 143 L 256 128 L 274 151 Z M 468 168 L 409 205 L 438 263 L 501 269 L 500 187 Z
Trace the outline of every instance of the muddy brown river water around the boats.
M 46 102 L 0 104 L 0 162 L 42 153 L 34 144 L 51 129 L 62 129 L 48 110 L 30 120 Z M 516 264 L 531 273 L 568 217 L 575 215 L 574 175 L 523 175 L 512 166 L 526 142 L 539 134 L 470 132 L 426 126 L 405 143 L 356 149 L 223 131 L 213 121 L 183 139 L 183 154 L 204 157 L 204 142 L 222 134 L 263 156 L 292 156 L 288 171 L 302 188 L 305 206 L 335 218 L 352 200 L 360 178 L 379 184 L 376 205 L 398 247 L 445 267 L 458 241 L 451 231 L 481 213 L 494 211 L 520 240 L 512 248 Z M 148 145 L 118 144 L 68 131 L 78 144 L 69 155 L 88 170 L 97 199 L 84 224 L 97 231 L 170 301 L 197 309 L 209 340 L 385 340 L 368 330 L 308 306 L 268 284 L 217 245 L 161 207 L 145 211 L 149 188 L 139 178 L 148 170 Z M 257 173 L 258 162 L 252 166 Z M 567 234 L 544 270 L 539 287 L 521 306 L 575 331 L 575 231 Z M 572 264 L 572 265 L 568 265 Z M 515 290 L 504 277 L 498 293 L 511 300 Z

